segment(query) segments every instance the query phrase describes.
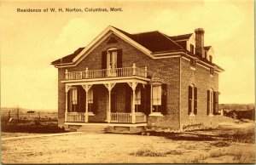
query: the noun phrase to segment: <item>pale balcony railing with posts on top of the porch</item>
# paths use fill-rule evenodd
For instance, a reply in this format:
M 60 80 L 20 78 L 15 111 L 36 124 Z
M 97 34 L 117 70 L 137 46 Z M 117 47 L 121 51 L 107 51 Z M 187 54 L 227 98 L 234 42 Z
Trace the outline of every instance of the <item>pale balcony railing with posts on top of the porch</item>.
M 132 67 L 102 69 L 102 70 L 91 70 L 89 71 L 86 67 L 85 71 L 67 71 L 65 72 L 66 80 L 79 80 L 79 79 L 93 79 L 93 78 L 105 78 L 105 77 L 147 77 L 147 66 L 137 68 L 135 64 Z

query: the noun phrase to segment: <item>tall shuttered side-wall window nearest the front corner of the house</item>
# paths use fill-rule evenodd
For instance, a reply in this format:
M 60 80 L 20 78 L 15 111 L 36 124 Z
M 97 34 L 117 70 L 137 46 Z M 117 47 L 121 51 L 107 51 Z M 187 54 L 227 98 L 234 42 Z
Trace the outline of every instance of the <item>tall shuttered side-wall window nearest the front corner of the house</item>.
M 189 115 L 197 114 L 197 88 L 195 85 L 189 85 Z

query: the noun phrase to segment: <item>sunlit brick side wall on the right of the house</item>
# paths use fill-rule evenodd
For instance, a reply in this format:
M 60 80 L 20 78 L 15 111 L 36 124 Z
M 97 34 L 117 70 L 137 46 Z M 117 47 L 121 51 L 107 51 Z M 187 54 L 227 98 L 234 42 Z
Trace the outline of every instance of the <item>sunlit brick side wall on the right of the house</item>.
M 214 72 L 210 77 L 210 70 L 196 64 L 195 70 L 190 68 L 190 61 L 181 60 L 181 125 L 191 123 L 203 123 L 205 126 L 216 127 L 218 116 L 207 115 L 207 90 L 212 88 L 218 91 L 218 73 Z M 188 114 L 189 84 L 193 83 L 197 88 L 197 115 L 190 117 Z

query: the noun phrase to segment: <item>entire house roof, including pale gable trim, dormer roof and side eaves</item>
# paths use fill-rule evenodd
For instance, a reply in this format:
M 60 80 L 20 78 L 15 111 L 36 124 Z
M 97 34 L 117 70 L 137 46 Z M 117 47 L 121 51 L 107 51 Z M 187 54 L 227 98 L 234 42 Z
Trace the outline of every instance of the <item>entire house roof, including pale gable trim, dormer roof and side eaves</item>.
M 166 53 L 173 53 L 173 52 L 184 52 L 189 54 L 189 51 L 183 48 L 181 45 L 176 43 L 175 41 L 179 40 L 187 40 L 189 37 L 193 35 L 193 33 L 179 35 L 179 36 L 166 36 L 166 34 L 161 33 L 160 31 L 148 31 L 143 33 L 137 33 L 137 34 L 130 34 L 126 31 L 120 30 L 113 26 L 108 26 L 105 31 L 102 31 L 102 33 L 96 37 L 96 39 L 90 43 L 93 45 L 95 42 L 97 42 L 99 38 L 102 37 L 105 33 L 108 31 L 113 31 L 121 37 L 125 37 L 126 40 L 128 39 L 131 43 L 137 44 L 137 48 L 140 48 L 141 50 L 145 51 L 146 54 L 149 56 L 154 57 L 154 54 L 166 54 Z M 90 48 L 90 44 L 87 48 L 78 48 L 76 51 L 74 51 L 73 54 L 69 54 L 59 60 L 55 60 L 51 62 L 52 65 L 70 65 L 73 64 L 74 61 L 78 60 L 81 55 L 85 54 L 85 52 Z M 209 50 L 211 46 L 205 47 L 206 50 Z M 190 54 L 194 55 L 194 54 Z M 205 61 L 209 63 L 209 65 L 215 65 L 213 63 L 210 63 L 208 61 Z M 215 65 L 220 68 L 218 65 Z

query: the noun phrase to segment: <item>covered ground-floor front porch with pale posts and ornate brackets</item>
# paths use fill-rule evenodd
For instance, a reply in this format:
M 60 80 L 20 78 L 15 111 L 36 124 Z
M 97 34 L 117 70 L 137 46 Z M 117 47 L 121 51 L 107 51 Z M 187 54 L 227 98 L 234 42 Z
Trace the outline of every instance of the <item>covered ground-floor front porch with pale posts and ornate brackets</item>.
M 147 122 L 146 77 L 111 77 L 92 81 L 65 82 L 65 123 Z

